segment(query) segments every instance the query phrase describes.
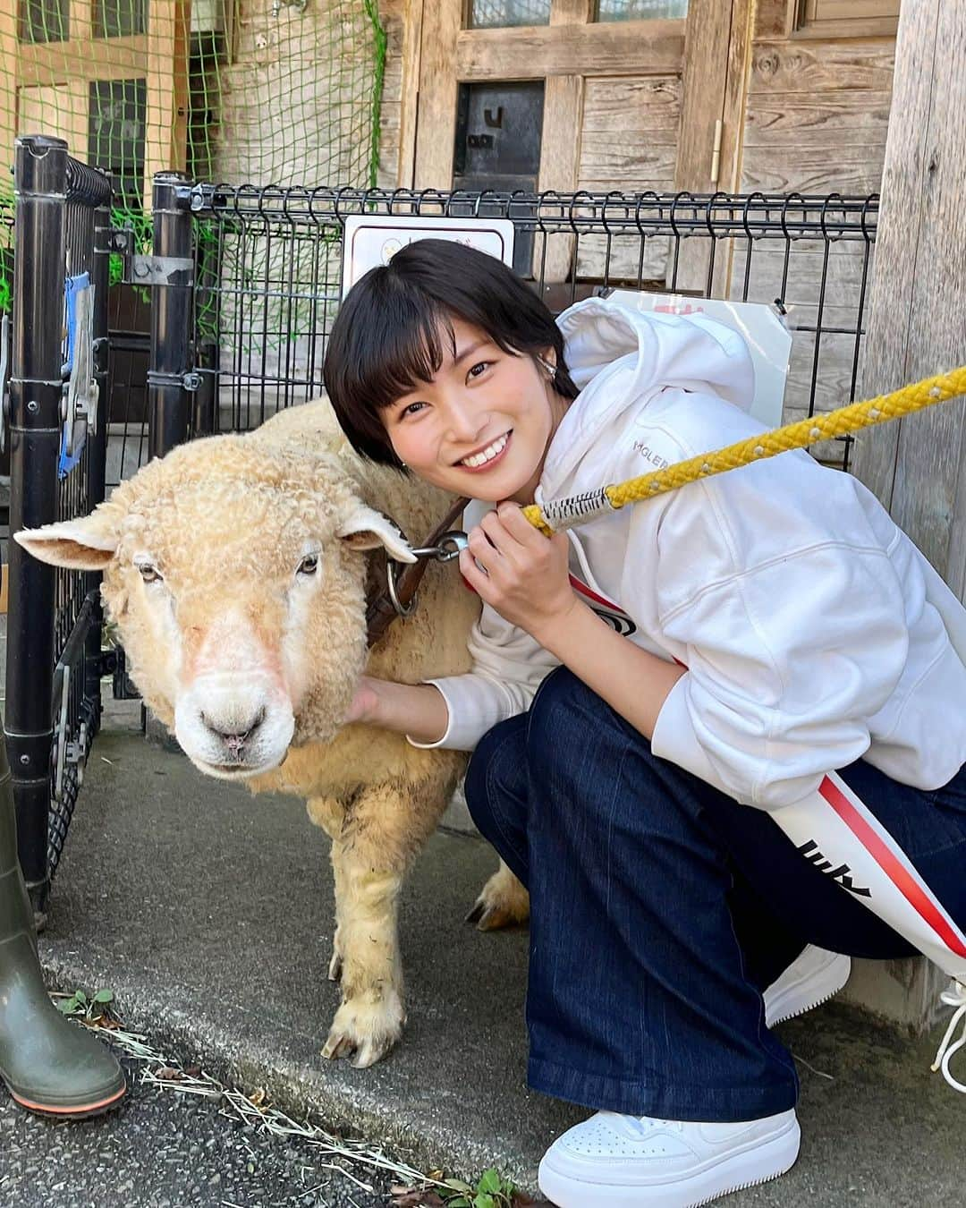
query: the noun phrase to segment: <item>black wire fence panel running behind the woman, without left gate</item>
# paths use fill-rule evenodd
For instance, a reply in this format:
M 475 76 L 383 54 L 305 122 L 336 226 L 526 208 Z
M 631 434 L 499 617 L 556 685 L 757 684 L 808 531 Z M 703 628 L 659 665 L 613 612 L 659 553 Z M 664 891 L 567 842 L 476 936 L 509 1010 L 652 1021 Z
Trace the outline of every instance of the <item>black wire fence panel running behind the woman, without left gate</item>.
M 190 320 L 179 312 L 165 327 L 164 384 L 178 417 L 170 437 L 175 429 L 249 430 L 322 393 L 343 223 L 353 214 L 508 217 L 528 240 L 534 289 L 554 312 L 607 286 L 778 303 L 793 336 L 786 418 L 855 397 L 874 194 L 415 193 L 165 182 L 164 221 L 181 232 L 167 233 L 165 245 L 176 239 L 184 251 L 191 226 L 194 257 Z M 851 443 L 843 437 L 813 452 L 848 467 Z M 169 447 L 168 437 L 161 447 Z

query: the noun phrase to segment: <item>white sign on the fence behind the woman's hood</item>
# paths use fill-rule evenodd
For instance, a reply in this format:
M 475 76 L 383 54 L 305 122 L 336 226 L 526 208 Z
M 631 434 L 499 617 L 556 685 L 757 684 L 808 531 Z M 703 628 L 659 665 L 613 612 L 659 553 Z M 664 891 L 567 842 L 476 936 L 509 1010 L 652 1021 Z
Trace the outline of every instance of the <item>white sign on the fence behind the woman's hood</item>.
M 768 428 L 781 423 L 781 403 L 792 333 L 764 302 L 724 302 L 721 298 L 696 298 L 685 294 L 645 294 L 636 290 L 613 290 L 609 297 L 638 310 L 664 314 L 694 314 L 700 312 L 716 319 L 732 331 L 740 332 L 751 353 L 755 367 L 755 397 L 750 413 Z

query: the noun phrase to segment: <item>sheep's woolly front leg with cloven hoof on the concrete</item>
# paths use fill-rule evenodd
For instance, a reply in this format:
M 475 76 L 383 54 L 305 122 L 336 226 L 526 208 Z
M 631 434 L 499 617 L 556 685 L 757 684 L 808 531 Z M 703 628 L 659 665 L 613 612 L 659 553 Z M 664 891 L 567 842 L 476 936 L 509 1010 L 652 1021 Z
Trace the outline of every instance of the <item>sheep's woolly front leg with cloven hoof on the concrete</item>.
M 397 900 L 423 836 L 407 832 L 405 818 L 391 790 L 369 790 L 353 803 L 332 844 L 342 1005 L 322 1056 L 353 1055 L 357 1068 L 384 1057 L 406 1022 Z

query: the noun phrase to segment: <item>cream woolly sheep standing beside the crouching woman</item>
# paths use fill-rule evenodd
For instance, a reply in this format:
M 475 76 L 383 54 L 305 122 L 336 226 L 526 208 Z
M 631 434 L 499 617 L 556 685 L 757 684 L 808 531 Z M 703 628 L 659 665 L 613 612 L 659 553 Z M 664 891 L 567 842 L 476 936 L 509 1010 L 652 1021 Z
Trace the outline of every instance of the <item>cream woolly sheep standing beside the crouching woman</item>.
M 14 534 L 45 562 L 104 571 L 132 678 L 202 772 L 304 797 L 331 837 L 342 1001 L 322 1056 L 359 1068 L 401 1035 L 397 896 L 466 756 L 342 719 L 363 670 L 419 683 L 467 669 L 479 602 L 454 567 L 430 565 L 413 618 L 366 649 L 369 551 L 413 561 L 386 517 L 418 541 L 450 503 L 362 461 L 322 401 L 182 445 L 91 516 Z M 526 913 L 501 865 L 477 900 L 481 927 Z

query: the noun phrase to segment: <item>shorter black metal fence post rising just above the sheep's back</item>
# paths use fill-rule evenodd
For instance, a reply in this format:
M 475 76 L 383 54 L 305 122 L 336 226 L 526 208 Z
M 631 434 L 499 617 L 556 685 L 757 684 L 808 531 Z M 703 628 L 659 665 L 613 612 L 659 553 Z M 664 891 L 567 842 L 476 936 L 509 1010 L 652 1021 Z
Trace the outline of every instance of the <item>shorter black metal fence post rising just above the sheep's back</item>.
M 191 403 L 187 381 L 191 362 L 191 273 L 184 263 L 192 255 L 191 201 L 187 178 L 162 172 L 152 191 L 153 259 L 158 278 L 152 283 L 151 360 L 147 370 L 147 455 L 163 457 L 188 437 Z M 187 280 L 185 280 L 187 278 Z

